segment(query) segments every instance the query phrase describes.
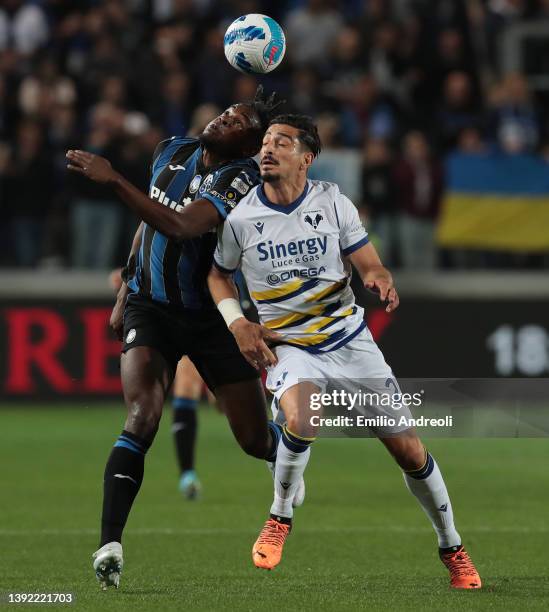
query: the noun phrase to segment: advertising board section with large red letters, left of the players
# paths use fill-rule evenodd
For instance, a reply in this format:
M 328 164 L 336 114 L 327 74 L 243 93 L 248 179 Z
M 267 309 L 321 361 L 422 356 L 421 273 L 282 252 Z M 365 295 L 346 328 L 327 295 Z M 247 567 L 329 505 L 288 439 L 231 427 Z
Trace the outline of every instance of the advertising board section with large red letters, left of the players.
M 2 308 L 2 396 L 119 395 L 120 342 L 110 331 L 110 312 L 104 301 Z

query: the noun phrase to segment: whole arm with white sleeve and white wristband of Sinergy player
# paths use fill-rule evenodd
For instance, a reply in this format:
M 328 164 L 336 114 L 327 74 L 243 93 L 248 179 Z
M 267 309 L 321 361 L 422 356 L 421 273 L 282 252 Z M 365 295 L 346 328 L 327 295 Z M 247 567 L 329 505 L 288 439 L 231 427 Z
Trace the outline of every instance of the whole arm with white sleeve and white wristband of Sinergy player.
M 266 341 L 280 341 L 280 336 L 262 325 L 248 321 L 240 308 L 232 275 L 238 268 L 241 256 L 242 250 L 234 228 L 227 220 L 217 243 L 214 263 L 208 275 L 208 287 L 246 361 L 254 368 L 274 365 L 277 359 Z

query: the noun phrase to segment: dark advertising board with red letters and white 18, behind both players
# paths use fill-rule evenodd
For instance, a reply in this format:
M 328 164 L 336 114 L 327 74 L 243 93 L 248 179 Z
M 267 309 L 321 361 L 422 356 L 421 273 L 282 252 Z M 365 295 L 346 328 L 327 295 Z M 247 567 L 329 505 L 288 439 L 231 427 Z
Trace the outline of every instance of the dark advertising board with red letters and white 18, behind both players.
M 0 304 L 0 398 L 120 397 L 120 342 L 109 300 Z M 366 320 L 397 377 L 545 377 L 545 300 L 405 299 Z

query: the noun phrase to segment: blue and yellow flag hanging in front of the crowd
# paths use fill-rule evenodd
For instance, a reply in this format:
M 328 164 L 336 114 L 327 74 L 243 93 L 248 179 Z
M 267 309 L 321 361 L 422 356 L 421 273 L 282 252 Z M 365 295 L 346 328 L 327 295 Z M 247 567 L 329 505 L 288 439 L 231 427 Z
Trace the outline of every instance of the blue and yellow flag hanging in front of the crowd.
M 549 251 L 549 164 L 530 155 L 450 155 L 437 242 L 446 248 Z

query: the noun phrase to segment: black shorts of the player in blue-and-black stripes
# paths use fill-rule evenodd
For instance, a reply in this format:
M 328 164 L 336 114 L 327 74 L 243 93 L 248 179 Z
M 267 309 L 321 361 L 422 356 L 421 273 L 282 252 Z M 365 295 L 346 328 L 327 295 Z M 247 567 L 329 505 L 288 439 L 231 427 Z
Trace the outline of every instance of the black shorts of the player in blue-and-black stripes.
M 134 346 L 156 349 L 174 375 L 177 362 L 188 355 L 212 391 L 219 385 L 259 378 L 216 309 L 176 308 L 131 294 L 124 311 L 122 352 Z

